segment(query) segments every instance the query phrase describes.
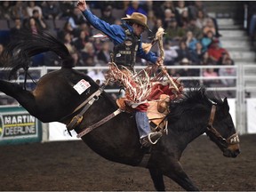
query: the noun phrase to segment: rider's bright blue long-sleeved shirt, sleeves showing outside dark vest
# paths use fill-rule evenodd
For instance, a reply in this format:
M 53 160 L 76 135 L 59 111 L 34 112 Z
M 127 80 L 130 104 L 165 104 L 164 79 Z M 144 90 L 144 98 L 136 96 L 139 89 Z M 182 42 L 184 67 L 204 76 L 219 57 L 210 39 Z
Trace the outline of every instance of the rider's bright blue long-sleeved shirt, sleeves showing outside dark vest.
M 125 31 L 124 31 L 124 28 L 122 28 L 122 26 L 110 25 L 109 23 L 105 22 L 104 20 L 100 20 L 98 17 L 93 15 L 92 12 L 90 12 L 89 10 L 85 10 L 82 13 L 83 13 L 84 17 L 86 18 L 86 20 L 88 20 L 94 28 L 97 28 L 102 33 L 107 35 L 115 45 L 122 44 L 124 42 Z M 133 29 L 131 26 L 129 26 L 127 24 L 124 24 L 124 25 L 126 25 L 127 28 L 129 28 L 129 30 L 132 32 Z M 157 60 L 156 54 L 154 52 L 146 53 L 143 51 L 143 49 L 141 47 L 141 42 L 139 44 L 137 56 L 139 56 L 140 58 L 142 58 L 144 60 L 148 60 L 152 63 L 156 63 L 156 60 Z

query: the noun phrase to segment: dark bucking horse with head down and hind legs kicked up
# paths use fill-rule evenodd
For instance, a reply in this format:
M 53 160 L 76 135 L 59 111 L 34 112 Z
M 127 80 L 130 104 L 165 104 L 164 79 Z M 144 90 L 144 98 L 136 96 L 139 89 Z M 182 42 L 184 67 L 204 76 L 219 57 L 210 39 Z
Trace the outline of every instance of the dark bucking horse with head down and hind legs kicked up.
M 97 92 L 99 85 L 89 76 L 73 69 L 68 49 L 54 37 L 47 34 L 23 34 L 22 37 L 6 48 L 2 58 L 2 64 L 12 69 L 11 75 L 15 75 L 19 68 L 27 71 L 29 58 L 40 52 L 57 53 L 63 60 L 62 68 L 41 77 L 33 91 L 26 91 L 20 84 L 4 80 L 0 80 L 0 91 L 16 99 L 42 122 L 69 124 L 72 117 L 82 110 L 77 106 Z M 91 87 L 78 94 L 73 86 L 81 79 L 91 84 Z M 98 100 L 84 113 L 84 119 L 76 126 L 76 132 L 82 132 L 85 127 L 99 122 L 116 109 L 115 100 L 108 93 L 101 92 Z M 171 114 L 167 116 L 168 134 L 152 146 L 149 159 L 145 158 L 145 150 L 140 148 L 139 133 L 132 114 L 121 113 L 82 139 L 92 150 L 110 161 L 140 166 L 146 159 L 145 167 L 150 172 L 156 190 L 164 190 L 163 175 L 186 190 L 198 190 L 183 171 L 180 157 L 188 143 L 204 132 L 224 156 L 236 157 L 239 154 L 239 139 L 228 113 L 228 101 L 206 92 L 204 87 L 196 87 L 184 93 L 182 99 L 172 102 L 170 109 Z

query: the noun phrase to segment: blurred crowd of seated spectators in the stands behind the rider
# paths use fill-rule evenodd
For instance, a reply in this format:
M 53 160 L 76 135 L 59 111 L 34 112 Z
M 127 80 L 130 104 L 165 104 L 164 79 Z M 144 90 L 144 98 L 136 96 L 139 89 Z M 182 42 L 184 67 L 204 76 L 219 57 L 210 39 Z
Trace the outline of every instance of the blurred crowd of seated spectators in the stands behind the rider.
M 82 13 L 71 1 L 2 1 L 0 20 L 8 21 L 9 40 L 22 28 L 33 33 L 46 30 L 68 47 L 76 66 L 106 66 L 113 44 L 108 37 L 93 37 L 99 31 L 84 20 Z M 88 1 L 91 11 L 110 24 L 122 24 L 122 17 L 132 12 L 148 16 L 151 31 L 145 31 L 143 42 L 150 42 L 157 28 L 164 28 L 164 65 L 234 65 L 234 60 L 221 44 L 218 22 L 208 15 L 204 1 Z M 1 29 L 1 28 L 0 28 Z M 8 43 L 0 42 L 0 54 Z M 153 52 L 158 54 L 157 46 Z M 60 66 L 52 52 L 36 55 L 31 66 Z M 137 65 L 147 65 L 137 60 Z M 88 71 L 89 72 L 89 71 Z M 170 69 L 172 76 L 236 76 L 234 68 Z M 91 72 L 92 73 L 92 72 Z M 93 72 L 98 76 L 100 71 Z M 101 76 L 101 75 L 100 75 Z M 232 86 L 235 80 L 208 80 L 204 84 Z

